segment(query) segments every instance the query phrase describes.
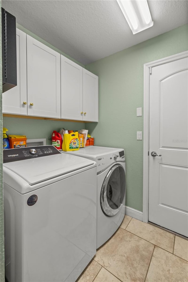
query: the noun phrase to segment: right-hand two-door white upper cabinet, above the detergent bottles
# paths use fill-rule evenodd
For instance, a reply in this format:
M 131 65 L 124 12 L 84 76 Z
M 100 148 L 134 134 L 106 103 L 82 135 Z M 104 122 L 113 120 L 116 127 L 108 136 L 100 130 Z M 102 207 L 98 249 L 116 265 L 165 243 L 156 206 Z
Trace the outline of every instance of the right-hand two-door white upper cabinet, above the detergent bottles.
M 63 55 L 61 118 L 98 122 L 98 76 Z

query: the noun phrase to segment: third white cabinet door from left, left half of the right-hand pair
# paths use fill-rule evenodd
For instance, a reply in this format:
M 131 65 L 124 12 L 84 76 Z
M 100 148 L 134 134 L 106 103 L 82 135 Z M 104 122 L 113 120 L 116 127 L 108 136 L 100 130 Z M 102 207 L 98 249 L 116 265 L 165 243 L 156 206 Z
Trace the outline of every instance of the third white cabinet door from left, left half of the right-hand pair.
M 61 118 L 82 120 L 82 67 L 61 55 Z

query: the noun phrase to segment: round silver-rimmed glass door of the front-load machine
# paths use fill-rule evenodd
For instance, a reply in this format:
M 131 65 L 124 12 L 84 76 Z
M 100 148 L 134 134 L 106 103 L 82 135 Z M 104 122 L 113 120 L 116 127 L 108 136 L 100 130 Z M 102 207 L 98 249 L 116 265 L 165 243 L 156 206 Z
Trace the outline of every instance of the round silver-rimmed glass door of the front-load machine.
M 100 205 L 105 215 L 113 216 L 119 212 L 125 199 L 125 170 L 115 164 L 105 177 L 100 193 Z

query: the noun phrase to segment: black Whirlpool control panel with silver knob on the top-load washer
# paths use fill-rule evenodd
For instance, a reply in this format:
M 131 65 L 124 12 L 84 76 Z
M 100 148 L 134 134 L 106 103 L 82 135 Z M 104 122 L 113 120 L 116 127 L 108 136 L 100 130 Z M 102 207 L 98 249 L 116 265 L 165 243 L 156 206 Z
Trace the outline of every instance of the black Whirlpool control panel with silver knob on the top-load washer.
M 3 162 L 16 162 L 56 154 L 61 152 L 52 145 L 7 149 L 3 151 Z

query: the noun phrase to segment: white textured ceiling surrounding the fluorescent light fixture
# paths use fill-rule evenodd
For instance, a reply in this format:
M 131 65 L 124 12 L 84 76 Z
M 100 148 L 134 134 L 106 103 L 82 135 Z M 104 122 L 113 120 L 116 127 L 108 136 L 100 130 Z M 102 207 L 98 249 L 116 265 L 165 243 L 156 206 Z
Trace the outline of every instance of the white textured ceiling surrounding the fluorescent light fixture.
M 148 0 L 154 25 L 132 34 L 117 1 L 2 0 L 17 23 L 84 65 L 188 23 L 187 0 Z

